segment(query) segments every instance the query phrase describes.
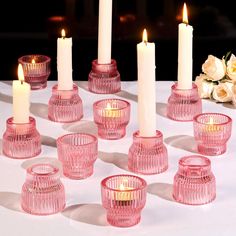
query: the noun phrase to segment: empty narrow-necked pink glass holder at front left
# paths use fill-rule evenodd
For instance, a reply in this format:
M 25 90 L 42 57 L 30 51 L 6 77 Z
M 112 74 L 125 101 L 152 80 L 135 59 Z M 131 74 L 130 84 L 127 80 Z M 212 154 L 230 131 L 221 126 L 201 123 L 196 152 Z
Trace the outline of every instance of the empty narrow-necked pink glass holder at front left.
M 65 205 L 59 169 L 51 164 L 29 167 L 21 190 L 22 209 L 33 215 L 51 215 L 62 211 Z

